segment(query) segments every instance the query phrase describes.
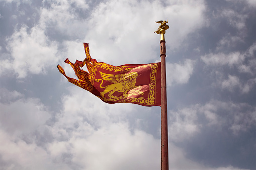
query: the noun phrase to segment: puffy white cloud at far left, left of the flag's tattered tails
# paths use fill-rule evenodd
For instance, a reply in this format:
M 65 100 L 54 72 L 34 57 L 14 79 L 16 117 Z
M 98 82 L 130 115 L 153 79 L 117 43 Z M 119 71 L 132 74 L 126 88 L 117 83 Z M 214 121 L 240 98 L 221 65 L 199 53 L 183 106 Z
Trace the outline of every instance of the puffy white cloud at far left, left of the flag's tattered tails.
M 12 68 L 19 78 L 26 77 L 28 73 L 46 73 L 46 69 L 58 61 L 57 43 L 49 41 L 39 27 L 33 27 L 28 32 L 28 28 L 22 26 L 8 39 L 7 48 L 12 59 L 3 61 L 3 66 Z

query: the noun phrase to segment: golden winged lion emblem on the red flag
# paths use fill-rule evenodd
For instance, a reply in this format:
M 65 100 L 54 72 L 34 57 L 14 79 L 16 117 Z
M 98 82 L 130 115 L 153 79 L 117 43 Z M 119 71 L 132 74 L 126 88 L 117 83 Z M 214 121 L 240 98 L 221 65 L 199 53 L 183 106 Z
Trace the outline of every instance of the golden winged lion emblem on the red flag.
M 123 96 L 127 96 L 127 92 L 133 88 L 135 88 L 135 83 L 136 83 L 136 78 L 138 77 L 137 72 L 131 72 L 131 73 L 126 73 L 126 74 L 106 74 L 100 72 L 101 77 L 103 80 L 110 81 L 113 84 L 110 84 L 108 86 L 102 87 L 103 80 L 102 79 L 96 79 L 96 82 L 101 82 L 100 87 L 102 89 L 105 89 L 103 92 L 101 92 L 101 96 L 105 99 L 106 93 L 109 93 L 109 97 L 111 99 L 116 99 L 118 98 L 117 96 L 113 96 L 115 91 L 117 92 L 122 92 Z

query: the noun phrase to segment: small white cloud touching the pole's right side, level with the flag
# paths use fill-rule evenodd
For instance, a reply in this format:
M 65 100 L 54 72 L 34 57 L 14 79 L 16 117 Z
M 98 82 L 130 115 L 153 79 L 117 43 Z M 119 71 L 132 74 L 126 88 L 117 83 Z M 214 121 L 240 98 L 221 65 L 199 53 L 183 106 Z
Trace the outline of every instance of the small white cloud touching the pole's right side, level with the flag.
M 167 86 L 173 84 L 185 84 L 193 74 L 195 61 L 187 59 L 182 64 L 166 63 L 166 83 Z

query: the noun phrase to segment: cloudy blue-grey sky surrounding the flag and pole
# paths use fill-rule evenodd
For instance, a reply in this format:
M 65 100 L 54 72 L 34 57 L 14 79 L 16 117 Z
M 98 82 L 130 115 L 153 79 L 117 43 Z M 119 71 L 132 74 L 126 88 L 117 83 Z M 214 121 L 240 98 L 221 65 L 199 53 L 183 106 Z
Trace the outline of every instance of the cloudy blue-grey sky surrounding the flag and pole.
M 255 0 L 0 0 L 0 169 L 160 169 L 160 107 L 56 68 L 159 62 L 160 20 L 169 169 L 256 169 Z

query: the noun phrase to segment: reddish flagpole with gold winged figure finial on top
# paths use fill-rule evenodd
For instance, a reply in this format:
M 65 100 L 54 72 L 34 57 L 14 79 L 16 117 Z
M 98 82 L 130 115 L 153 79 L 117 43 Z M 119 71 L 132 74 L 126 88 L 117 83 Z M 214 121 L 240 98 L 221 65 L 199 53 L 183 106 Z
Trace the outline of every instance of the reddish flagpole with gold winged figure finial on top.
M 165 68 L 165 30 L 169 28 L 166 23 L 168 21 L 158 21 L 161 24 L 157 34 L 161 35 L 160 38 L 160 57 L 161 57 L 161 170 L 169 169 L 168 163 L 168 125 L 167 125 L 167 97 L 166 97 L 166 68 Z

